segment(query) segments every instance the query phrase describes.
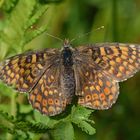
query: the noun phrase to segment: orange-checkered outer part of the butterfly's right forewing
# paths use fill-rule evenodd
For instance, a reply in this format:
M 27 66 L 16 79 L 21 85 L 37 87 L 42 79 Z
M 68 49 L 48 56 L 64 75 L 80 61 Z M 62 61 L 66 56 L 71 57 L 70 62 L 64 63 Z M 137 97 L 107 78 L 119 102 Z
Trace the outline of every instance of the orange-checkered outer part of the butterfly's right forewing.
M 97 44 L 91 47 L 93 61 L 117 81 L 124 81 L 140 70 L 140 46 Z

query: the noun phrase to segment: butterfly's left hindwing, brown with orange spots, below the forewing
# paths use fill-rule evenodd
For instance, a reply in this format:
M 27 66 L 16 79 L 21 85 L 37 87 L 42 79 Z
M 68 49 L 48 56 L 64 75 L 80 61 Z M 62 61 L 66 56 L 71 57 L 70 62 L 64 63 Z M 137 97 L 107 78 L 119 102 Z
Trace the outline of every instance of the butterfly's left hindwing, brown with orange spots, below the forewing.
M 33 108 L 42 114 L 57 115 L 65 110 L 67 104 L 71 103 L 72 96 L 70 93 L 66 94 L 63 87 L 65 72 L 62 69 L 59 62 L 54 63 L 47 69 L 29 95 L 29 101 Z

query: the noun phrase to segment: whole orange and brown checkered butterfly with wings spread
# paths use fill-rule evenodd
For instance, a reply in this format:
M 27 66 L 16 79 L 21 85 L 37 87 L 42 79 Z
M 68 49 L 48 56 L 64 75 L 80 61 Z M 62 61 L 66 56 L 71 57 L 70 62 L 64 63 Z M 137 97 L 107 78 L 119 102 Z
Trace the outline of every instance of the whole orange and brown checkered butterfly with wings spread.
M 19 92 L 42 114 L 65 110 L 75 96 L 78 104 L 108 109 L 118 98 L 118 82 L 140 70 L 140 45 L 102 43 L 45 49 L 13 56 L 0 63 L 0 79 Z

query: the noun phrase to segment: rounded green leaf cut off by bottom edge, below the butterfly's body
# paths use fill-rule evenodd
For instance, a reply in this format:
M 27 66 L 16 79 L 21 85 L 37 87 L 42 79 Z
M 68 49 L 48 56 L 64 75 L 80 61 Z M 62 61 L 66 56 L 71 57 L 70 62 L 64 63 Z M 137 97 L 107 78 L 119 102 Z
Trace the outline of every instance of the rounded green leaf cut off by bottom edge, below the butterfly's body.
M 70 122 L 60 122 L 51 131 L 53 140 L 73 140 L 74 130 Z

